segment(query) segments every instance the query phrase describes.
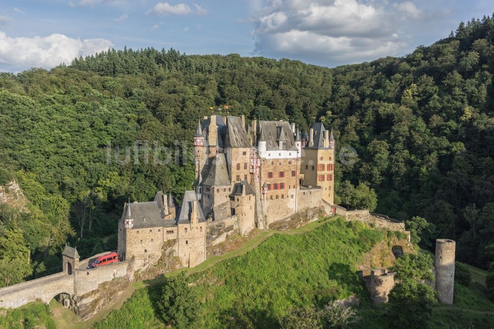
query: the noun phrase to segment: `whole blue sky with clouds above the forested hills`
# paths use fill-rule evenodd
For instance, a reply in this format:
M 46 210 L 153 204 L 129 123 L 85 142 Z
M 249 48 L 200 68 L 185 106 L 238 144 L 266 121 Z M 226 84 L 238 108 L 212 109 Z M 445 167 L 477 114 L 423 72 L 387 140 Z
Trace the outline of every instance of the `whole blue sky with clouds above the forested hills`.
M 0 72 L 124 46 L 334 67 L 406 55 L 493 12 L 492 0 L 0 0 Z

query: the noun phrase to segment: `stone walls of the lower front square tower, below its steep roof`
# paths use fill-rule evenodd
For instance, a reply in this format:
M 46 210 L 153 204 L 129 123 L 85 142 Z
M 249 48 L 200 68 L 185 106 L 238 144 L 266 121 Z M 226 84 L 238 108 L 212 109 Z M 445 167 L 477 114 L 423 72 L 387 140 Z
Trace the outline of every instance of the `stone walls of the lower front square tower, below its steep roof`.
M 178 224 L 177 229 L 177 256 L 182 266 L 194 267 L 202 263 L 206 259 L 206 223 Z

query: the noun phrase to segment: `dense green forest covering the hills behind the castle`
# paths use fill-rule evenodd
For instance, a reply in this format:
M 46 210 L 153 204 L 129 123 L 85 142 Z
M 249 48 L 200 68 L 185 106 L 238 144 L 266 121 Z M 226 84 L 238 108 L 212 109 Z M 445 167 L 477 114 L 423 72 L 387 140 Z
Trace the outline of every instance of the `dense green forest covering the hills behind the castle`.
M 125 48 L 0 74 L 0 185 L 15 178 L 30 201 L 25 211 L 0 205 L 0 287 L 59 271 L 66 241 L 82 258 L 115 248 L 128 198 L 171 190 L 180 200 L 193 163 L 175 152 L 183 141 L 191 146 L 197 118 L 225 104 L 248 119 L 331 126 L 336 152 L 350 146 L 358 155 L 335 166 L 340 202 L 368 186 L 375 211 L 406 221 L 422 247 L 453 238 L 459 260 L 488 268 L 493 36 L 494 15 L 407 56 L 336 68 Z M 108 142 L 139 157 L 108 161 Z M 176 161 L 146 161 L 146 143 L 169 148 L 158 157 Z

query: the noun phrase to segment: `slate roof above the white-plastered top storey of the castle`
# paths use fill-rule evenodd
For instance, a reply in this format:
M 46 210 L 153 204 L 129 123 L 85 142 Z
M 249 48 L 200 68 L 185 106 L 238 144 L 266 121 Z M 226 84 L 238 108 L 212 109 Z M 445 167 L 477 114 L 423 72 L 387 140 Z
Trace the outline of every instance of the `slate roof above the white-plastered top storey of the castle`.
M 290 124 L 287 121 L 259 121 L 259 131 L 264 136 L 259 136 L 259 140 L 266 139 L 266 150 L 277 151 L 297 151 L 294 144 L 294 136 Z M 279 147 L 279 141 L 286 141 L 285 147 Z

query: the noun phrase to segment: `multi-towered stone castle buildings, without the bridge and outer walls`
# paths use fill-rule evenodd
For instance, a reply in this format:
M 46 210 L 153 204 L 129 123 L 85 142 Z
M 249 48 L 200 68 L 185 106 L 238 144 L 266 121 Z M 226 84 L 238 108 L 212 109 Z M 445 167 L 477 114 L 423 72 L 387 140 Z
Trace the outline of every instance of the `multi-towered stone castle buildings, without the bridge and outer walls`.
M 332 211 L 334 138 L 322 123 L 307 135 L 285 121 L 205 117 L 194 134 L 195 190 L 179 210 L 171 194 L 124 205 L 118 254 L 137 267 L 156 262 L 174 241 L 182 266 L 206 259 L 208 225 L 235 222 L 241 235 L 303 208 Z M 211 230 L 209 230 L 210 232 Z

